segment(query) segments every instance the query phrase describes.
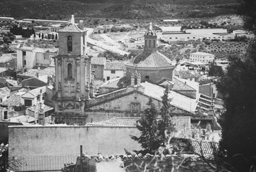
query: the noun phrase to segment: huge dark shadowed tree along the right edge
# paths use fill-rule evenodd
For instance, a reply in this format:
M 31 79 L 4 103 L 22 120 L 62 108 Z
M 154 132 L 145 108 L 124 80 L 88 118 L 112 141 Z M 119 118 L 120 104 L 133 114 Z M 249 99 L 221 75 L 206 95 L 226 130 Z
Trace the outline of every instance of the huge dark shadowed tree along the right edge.
M 251 42 L 247 55 L 229 57 L 229 61 L 227 72 L 217 83 L 227 110 L 220 120 L 219 156 L 237 171 L 250 171 L 256 164 L 256 40 Z

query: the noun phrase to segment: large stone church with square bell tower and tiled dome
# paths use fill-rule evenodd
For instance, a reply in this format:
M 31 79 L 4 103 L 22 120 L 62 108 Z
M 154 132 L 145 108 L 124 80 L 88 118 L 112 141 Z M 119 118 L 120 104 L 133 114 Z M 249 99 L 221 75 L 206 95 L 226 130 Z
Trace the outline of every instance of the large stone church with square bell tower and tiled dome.
M 109 82 L 117 89 L 97 96 L 93 95 L 91 59 L 86 55 L 86 30 L 78 27 L 72 18 L 58 34 L 60 46 L 55 57 L 55 113 L 52 115 L 55 123 L 86 125 L 110 118 L 140 117 L 148 108 L 150 98 L 160 110 L 167 85 L 172 115 L 198 117 L 198 82 L 173 76 L 175 65 L 157 52 L 157 35 L 151 24 L 145 32 L 144 51 L 127 62 L 126 76 Z

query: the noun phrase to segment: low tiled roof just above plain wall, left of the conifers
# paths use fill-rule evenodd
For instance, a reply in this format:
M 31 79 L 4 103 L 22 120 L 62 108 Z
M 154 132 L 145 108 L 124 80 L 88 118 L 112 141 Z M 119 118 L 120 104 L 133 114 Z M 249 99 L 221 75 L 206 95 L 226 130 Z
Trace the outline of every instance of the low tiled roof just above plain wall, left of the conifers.
M 111 118 L 99 122 L 87 123 L 86 126 L 99 127 L 136 127 L 136 121 L 140 118 Z

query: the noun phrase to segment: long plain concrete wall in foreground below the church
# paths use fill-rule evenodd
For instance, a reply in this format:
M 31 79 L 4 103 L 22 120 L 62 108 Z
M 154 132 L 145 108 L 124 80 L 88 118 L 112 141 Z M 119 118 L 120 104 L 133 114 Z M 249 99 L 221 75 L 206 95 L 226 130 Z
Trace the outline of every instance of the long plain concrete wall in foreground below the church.
M 49 161 L 52 157 L 62 157 L 60 155 L 78 155 L 80 145 L 83 145 L 83 153 L 88 155 L 99 152 L 106 156 L 122 154 L 124 148 L 128 151 L 140 150 L 140 145 L 129 135 L 138 136 L 140 131 L 129 127 L 12 126 L 9 128 L 9 158 L 16 157 L 27 163 L 35 156 L 44 156 L 44 161 Z M 59 162 L 60 166 L 70 163 Z M 41 161 L 38 166 L 43 163 Z M 33 162 L 27 163 L 25 168 L 31 171 L 33 166 Z M 45 171 L 45 167 L 40 170 Z M 56 169 L 52 167 L 51 170 Z

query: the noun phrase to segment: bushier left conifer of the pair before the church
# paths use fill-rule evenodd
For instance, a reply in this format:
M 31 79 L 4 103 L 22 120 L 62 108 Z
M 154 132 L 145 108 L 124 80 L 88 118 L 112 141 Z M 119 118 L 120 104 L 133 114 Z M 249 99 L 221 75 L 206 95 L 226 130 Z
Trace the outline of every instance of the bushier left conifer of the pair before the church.
M 157 136 L 157 109 L 155 104 L 150 101 L 147 102 L 150 108 L 144 110 L 142 118 L 137 121 L 137 128 L 140 130 L 140 137 L 131 135 L 133 140 L 138 141 L 145 148 L 145 153 L 155 153 L 155 150 L 159 148 L 159 137 Z

